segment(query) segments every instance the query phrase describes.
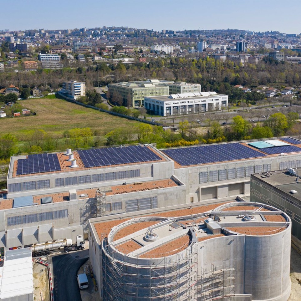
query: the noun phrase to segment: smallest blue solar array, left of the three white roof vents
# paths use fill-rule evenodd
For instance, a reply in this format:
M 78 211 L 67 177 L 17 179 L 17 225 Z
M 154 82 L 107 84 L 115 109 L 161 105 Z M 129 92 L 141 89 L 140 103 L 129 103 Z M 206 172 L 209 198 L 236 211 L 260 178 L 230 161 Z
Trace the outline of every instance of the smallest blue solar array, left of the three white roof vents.
M 28 155 L 27 159 L 19 159 L 16 175 L 28 175 L 48 171 L 60 171 L 57 154 Z

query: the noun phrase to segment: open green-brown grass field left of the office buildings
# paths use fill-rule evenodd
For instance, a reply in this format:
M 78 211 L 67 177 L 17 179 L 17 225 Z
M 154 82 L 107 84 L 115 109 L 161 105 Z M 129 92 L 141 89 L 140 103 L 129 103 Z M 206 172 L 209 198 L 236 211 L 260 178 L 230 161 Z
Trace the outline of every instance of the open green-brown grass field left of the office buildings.
M 19 103 L 37 115 L 1 118 L 0 136 L 11 133 L 18 140 L 23 140 L 23 136 L 33 130 L 62 135 L 67 130 L 83 127 L 89 127 L 92 131 L 97 130 L 98 135 L 105 135 L 116 128 L 139 124 L 135 120 L 85 108 L 63 99 L 27 99 L 20 100 Z

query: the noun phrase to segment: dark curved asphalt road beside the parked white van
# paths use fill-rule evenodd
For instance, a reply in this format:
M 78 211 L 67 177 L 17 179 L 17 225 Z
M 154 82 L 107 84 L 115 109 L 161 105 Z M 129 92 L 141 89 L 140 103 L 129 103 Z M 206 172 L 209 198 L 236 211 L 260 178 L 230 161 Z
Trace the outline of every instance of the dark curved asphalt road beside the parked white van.
M 81 301 L 76 275 L 88 258 L 89 249 L 51 256 L 55 301 Z

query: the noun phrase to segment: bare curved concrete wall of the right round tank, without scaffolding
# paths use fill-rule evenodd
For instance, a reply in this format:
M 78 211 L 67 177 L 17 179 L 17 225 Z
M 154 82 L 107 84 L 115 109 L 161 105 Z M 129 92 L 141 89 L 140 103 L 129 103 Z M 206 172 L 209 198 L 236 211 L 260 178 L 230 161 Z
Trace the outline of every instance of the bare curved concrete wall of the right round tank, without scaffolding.
M 276 234 L 245 237 L 244 293 L 252 300 L 286 301 L 289 277 L 291 224 Z

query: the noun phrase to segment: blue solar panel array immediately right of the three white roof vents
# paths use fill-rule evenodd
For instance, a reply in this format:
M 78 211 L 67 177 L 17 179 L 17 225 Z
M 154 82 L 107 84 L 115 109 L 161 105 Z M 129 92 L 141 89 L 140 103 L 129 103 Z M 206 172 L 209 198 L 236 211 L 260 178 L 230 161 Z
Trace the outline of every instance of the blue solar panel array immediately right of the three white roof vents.
M 145 146 L 108 147 L 90 150 L 78 150 L 85 167 L 110 166 L 135 162 L 162 160 Z

